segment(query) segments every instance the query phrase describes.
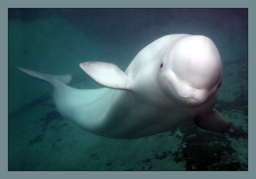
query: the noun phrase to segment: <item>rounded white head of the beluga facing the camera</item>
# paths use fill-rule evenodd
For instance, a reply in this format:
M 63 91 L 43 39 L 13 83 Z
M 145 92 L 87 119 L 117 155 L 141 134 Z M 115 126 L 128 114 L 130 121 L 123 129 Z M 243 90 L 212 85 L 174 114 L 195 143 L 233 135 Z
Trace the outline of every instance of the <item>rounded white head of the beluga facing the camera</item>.
M 172 102 L 196 107 L 211 100 L 222 82 L 218 49 L 201 35 L 167 45 L 158 64 L 158 85 Z

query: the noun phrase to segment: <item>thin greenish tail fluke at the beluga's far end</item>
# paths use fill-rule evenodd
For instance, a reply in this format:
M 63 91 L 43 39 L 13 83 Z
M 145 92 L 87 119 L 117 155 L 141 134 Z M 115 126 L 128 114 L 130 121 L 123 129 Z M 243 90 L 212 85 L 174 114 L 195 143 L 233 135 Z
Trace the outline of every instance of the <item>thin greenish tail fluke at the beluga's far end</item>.
M 71 74 L 67 74 L 67 75 L 50 75 L 50 74 L 45 74 L 45 73 L 41 73 L 38 71 L 33 71 L 33 70 L 28 70 L 28 69 L 24 69 L 21 67 L 16 66 L 20 71 L 28 74 L 29 76 L 41 79 L 47 83 L 49 83 L 50 85 L 54 86 L 54 79 L 58 79 L 60 80 L 62 83 L 64 84 L 68 84 L 71 79 L 72 79 L 72 75 Z

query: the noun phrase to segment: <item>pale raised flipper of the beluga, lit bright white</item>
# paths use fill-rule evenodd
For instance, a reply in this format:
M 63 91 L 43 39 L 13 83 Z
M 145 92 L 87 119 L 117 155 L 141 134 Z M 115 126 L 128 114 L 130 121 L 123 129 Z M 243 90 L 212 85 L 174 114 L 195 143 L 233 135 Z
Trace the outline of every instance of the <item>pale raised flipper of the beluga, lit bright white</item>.
M 98 84 L 119 90 L 130 91 L 132 78 L 113 63 L 84 62 L 79 64 L 83 71 Z

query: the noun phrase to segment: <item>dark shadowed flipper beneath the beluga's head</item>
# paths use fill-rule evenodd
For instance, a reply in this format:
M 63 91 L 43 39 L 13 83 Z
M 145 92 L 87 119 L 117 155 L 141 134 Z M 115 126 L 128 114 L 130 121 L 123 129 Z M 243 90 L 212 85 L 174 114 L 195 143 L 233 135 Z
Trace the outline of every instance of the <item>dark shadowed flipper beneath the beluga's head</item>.
M 224 133 L 228 131 L 228 122 L 223 119 L 219 111 L 213 108 L 212 112 L 200 114 L 195 117 L 194 122 L 197 126 L 207 131 Z

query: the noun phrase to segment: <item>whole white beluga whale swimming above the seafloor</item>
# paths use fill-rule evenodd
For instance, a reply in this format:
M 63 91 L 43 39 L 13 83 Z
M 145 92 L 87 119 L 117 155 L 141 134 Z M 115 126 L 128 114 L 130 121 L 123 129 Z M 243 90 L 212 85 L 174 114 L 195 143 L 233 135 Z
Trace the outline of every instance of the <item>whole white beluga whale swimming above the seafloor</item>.
M 68 86 L 71 75 L 53 76 L 17 67 L 49 83 L 57 110 L 93 134 L 142 138 L 194 121 L 224 133 L 228 123 L 214 108 L 222 82 L 220 54 L 202 35 L 172 34 L 143 48 L 123 72 L 113 63 L 83 62 L 99 89 Z

